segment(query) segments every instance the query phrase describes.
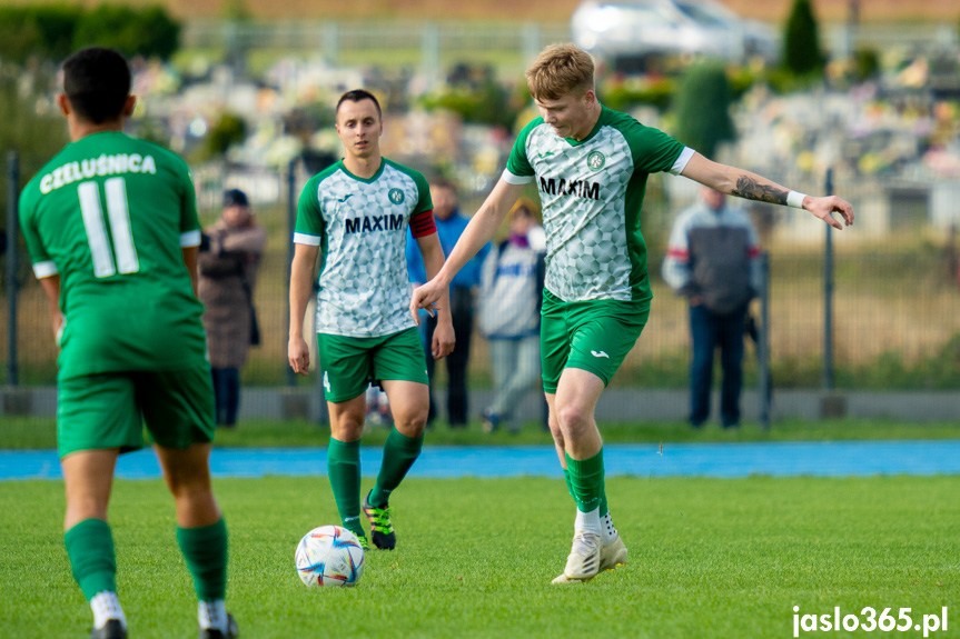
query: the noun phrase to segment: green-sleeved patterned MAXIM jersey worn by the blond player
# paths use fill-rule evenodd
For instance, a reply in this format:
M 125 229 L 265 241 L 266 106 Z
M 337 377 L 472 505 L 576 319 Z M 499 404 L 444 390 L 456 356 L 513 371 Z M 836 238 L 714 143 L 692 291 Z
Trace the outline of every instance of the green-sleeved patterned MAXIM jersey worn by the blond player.
M 602 108 L 582 141 L 543 118 L 514 143 L 503 179 L 537 180 L 546 231 L 546 289 L 562 301 L 649 301 L 640 211 L 650 173 L 679 174 L 693 150 L 630 116 Z

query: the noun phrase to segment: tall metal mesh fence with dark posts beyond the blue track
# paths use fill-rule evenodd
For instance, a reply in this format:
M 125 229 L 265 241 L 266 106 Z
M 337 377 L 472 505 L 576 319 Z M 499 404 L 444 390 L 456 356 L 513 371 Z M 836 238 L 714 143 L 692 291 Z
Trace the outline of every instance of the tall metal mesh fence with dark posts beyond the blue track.
M 198 171 L 197 177 L 201 194 L 219 193 L 224 187 L 254 191 L 257 184 L 260 188 L 274 184 L 271 188 L 279 196 L 274 204 L 257 206 L 257 214 L 270 234 L 255 293 L 263 346 L 251 351 L 244 380 L 248 386 L 285 386 L 291 381 L 286 363 L 289 193 L 296 198 L 307 176 L 299 172 L 294 182 L 276 173 Z M 780 178 L 798 190 L 824 191 L 822 176 Z M 614 386 L 683 388 L 687 381 L 687 308 L 660 277 L 666 236 L 684 203 L 681 196 L 671 196 L 672 189 L 665 184 L 673 179 L 652 178 L 651 192 L 665 193 L 651 196 L 643 213 L 655 299 L 644 335 L 614 379 Z M 960 288 L 958 248 L 950 217 L 953 209 L 937 213 L 937 207 L 942 207 L 938 202 L 960 201 L 960 184 L 944 191 L 947 187 L 942 183 L 913 183 L 909 189 L 912 193 L 909 207 L 902 200 L 904 188 L 902 183 L 838 179 L 835 190 L 854 204 L 858 221 L 843 232 L 832 232 L 832 298 L 824 292 L 825 226 L 802 211 L 751 207 L 770 254 L 769 340 L 774 387 L 822 387 L 824 363 L 831 363 L 824 362 L 825 345 L 833 349 L 832 383 L 839 389 L 931 390 L 960 386 Z M 478 203 L 468 199 L 463 208 L 469 212 Z M 909 216 L 904 209 L 909 209 Z M 217 212 L 212 201 L 208 201 L 204 221 L 211 222 Z M 908 216 L 909 223 L 898 223 L 898 216 Z M 57 353 L 46 301 L 24 253 L 20 253 L 19 261 L 13 264 L 8 253 L 9 266 L 4 269 L 8 283 L 0 310 L 0 335 L 7 338 L 0 340 L 0 385 L 52 385 Z M 16 290 L 10 288 L 12 276 L 19 283 Z M 484 300 L 477 303 L 483 304 Z M 17 317 L 16 333 L 11 311 Z M 825 328 L 828 317 L 833 322 L 830 329 Z M 476 339 L 472 385 L 486 388 L 487 349 L 482 339 Z M 11 347 L 16 347 L 16 360 L 10 358 Z M 748 349 L 751 352 L 752 347 Z M 755 361 L 748 355 L 750 385 L 758 383 L 760 376 Z M 16 377 L 11 377 L 11 371 L 16 371 Z

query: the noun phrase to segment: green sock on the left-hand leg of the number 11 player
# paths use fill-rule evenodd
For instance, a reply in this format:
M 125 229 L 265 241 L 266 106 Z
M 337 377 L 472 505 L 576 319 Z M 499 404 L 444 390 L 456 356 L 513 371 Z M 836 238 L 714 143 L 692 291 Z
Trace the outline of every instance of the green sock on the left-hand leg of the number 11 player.
M 73 579 L 87 601 L 98 592 L 117 591 L 117 557 L 110 525 L 102 519 L 85 519 L 63 535 Z

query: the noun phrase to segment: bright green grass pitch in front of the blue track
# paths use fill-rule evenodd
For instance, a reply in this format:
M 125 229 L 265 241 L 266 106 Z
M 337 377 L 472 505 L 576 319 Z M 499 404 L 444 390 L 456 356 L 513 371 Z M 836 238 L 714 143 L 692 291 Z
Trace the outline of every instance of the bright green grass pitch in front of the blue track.
M 794 606 L 909 607 L 918 619 L 960 610 L 958 477 L 614 478 L 629 563 L 572 587 L 550 585 L 572 533 L 558 480 L 406 482 L 393 500 L 398 549 L 369 552 L 346 590 L 307 589 L 294 570 L 299 537 L 337 522 L 325 478 L 217 480 L 216 490 L 230 528 L 228 607 L 245 638 L 769 638 L 792 636 Z M 0 482 L 0 636 L 86 637 L 62 486 Z M 118 481 L 111 519 L 131 637 L 194 636 L 162 485 Z M 943 637 L 957 636 L 950 621 Z

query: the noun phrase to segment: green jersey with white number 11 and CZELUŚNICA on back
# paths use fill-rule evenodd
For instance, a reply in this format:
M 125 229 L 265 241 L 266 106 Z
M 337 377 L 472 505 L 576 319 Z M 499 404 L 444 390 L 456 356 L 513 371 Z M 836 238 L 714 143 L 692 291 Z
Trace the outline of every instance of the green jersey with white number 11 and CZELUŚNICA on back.
M 38 278 L 60 276 L 60 379 L 202 362 L 202 304 L 181 247 L 200 243 L 187 164 L 119 132 L 68 144 L 20 196 Z

